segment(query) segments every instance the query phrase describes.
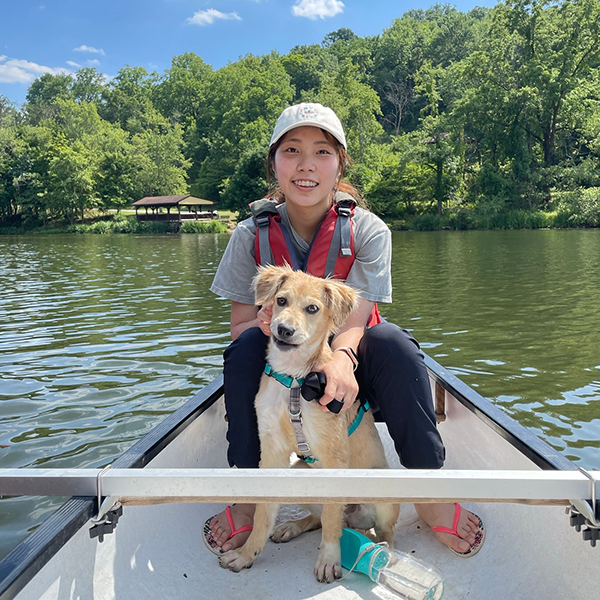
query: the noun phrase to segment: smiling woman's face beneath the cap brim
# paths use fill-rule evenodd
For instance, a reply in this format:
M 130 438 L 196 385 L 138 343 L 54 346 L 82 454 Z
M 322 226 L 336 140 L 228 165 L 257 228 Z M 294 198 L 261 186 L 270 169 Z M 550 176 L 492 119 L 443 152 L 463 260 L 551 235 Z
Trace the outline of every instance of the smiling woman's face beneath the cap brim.
M 275 151 L 273 168 L 286 202 L 329 208 L 340 161 L 323 130 L 308 126 L 288 131 Z

